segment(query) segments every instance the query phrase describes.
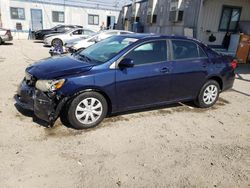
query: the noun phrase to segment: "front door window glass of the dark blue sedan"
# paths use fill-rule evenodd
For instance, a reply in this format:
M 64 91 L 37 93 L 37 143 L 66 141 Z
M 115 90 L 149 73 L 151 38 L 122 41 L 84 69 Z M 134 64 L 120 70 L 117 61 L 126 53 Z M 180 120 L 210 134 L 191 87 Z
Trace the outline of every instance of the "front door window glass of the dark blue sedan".
M 166 61 L 166 41 L 159 40 L 142 44 L 129 52 L 125 58 L 132 59 L 135 65 Z

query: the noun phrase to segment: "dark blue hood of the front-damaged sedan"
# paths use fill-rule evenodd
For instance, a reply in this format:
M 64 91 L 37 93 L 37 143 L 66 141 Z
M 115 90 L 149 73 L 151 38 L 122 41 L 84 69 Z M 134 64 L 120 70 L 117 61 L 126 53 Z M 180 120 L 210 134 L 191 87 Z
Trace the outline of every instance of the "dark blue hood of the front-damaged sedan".
M 26 69 L 37 79 L 56 79 L 89 71 L 94 65 L 78 60 L 74 56 L 55 56 L 41 60 Z

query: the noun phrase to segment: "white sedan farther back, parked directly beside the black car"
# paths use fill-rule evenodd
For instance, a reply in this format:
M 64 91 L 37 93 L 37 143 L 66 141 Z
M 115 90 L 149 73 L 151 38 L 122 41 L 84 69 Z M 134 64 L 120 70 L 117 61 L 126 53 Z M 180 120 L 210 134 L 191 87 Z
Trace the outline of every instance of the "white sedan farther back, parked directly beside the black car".
M 44 38 L 44 44 L 46 46 L 63 46 L 67 41 L 77 38 L 87 38 L 90 35 L 93 35 L 95 31 L 90 29 L 72 29 L 66 33 L 59 34 L 59 35 L 52 35 L 47 36 Z

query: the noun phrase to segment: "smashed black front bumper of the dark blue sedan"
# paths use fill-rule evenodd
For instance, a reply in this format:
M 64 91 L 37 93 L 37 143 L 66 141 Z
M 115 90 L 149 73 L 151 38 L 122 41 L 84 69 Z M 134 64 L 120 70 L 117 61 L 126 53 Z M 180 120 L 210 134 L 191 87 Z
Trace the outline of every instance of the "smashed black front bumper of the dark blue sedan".
M 54 125 L 66 102 L 66 98 L 61 98 L 56 93 L 37 90 L 28 86 L 25 81 L 20 84 L 14 99 L 18 106 L 33 111 L 37 118 L 46 121 L 50 126 Z

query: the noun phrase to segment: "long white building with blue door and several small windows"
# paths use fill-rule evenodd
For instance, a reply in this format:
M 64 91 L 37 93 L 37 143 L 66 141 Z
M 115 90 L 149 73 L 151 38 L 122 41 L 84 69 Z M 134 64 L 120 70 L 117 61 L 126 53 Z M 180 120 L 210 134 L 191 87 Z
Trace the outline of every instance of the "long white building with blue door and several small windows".
M 11 29 L 14 38 L 28 38 L 29 30 L 75 24 L 100 30 L 112 27 L 120 8 L 86 0 L 0 0 L 0 27 Z

